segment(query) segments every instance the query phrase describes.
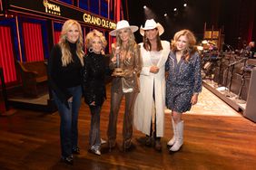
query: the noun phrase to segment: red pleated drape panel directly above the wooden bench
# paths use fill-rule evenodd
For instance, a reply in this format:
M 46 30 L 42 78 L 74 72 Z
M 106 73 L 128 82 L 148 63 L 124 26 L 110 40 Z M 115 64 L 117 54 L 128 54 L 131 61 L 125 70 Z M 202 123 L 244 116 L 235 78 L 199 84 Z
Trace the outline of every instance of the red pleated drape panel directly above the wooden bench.
M 23 23 L 26 61 L 43 61 L 44 47 L 41 24 Z

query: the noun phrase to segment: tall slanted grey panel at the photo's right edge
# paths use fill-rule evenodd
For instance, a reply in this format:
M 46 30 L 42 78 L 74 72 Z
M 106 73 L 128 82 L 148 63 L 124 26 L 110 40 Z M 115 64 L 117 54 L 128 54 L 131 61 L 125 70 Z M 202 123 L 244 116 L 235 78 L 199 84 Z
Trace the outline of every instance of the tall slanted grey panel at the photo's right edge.
M 251 80 L 247 95 L 246 108 L 243 113 L 243 116 L 251 119 L 256 122 L 256 67 L 254 67 L 251 71 Z

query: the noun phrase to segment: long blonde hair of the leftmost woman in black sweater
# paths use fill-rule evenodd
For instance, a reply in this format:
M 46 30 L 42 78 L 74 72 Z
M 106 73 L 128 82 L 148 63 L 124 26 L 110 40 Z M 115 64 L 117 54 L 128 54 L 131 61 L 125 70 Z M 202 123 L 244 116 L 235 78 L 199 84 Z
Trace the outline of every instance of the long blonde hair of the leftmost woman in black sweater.
M 70 30 L 70 28 L 72 27 L 72 25 L 77 25 L 78 27 L 78 32 L 79 32 L 79 37 L 78 40 L 76 41 L 76 54 L 79 58 L 79 60 L 81 61 L 81 64 L 84 65 L 84 51 L 83 51 L 83 47 L 84 47 L 84 42 L 83 42 L 83 33 L 82 33 L 82 28 L 81 25 L 74 21 L 74 20 L 67 20 L 62 28 L 62 32 L 60 35 L 60 40 L 58 42 L 58 44 L 61 47 L 62 50 L 62 64 L 63 66 L 67 66 L 67 64 L 69 64 L 72 60 L 72 54 L 70 52 L 70 47 L 69 44 L 67 42 L 66 39 L 66 34 L 67 32 Z

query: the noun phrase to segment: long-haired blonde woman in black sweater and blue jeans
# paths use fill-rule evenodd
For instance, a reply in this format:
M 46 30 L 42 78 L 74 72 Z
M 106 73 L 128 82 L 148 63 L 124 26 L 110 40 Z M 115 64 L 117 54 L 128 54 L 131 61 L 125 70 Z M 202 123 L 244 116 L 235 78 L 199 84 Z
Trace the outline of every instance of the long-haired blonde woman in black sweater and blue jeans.
M 82 97 L 83 45 L 81 25 L 67 20 L 48 60 L 48 80 L 61 118 L 61 158 L 69 165 L 73 165 L 73 154 L 80 154 L 77 120 Z

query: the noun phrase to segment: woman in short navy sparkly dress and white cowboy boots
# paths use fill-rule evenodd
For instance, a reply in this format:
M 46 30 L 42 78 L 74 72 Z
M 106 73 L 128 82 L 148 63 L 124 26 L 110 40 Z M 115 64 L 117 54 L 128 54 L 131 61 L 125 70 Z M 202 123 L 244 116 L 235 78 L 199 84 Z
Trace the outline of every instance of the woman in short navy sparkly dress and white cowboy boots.
M 190 110 L 198 101 L 202 91 L 200 56 L 195 46 L 196 40 L 189 30 L 175 33 L 171 52 L 165 65 L 166 106 L 172 110 L 173 137 L 168 142 L 170 152 L 180 149 L 183 144 L 182 113 Z

